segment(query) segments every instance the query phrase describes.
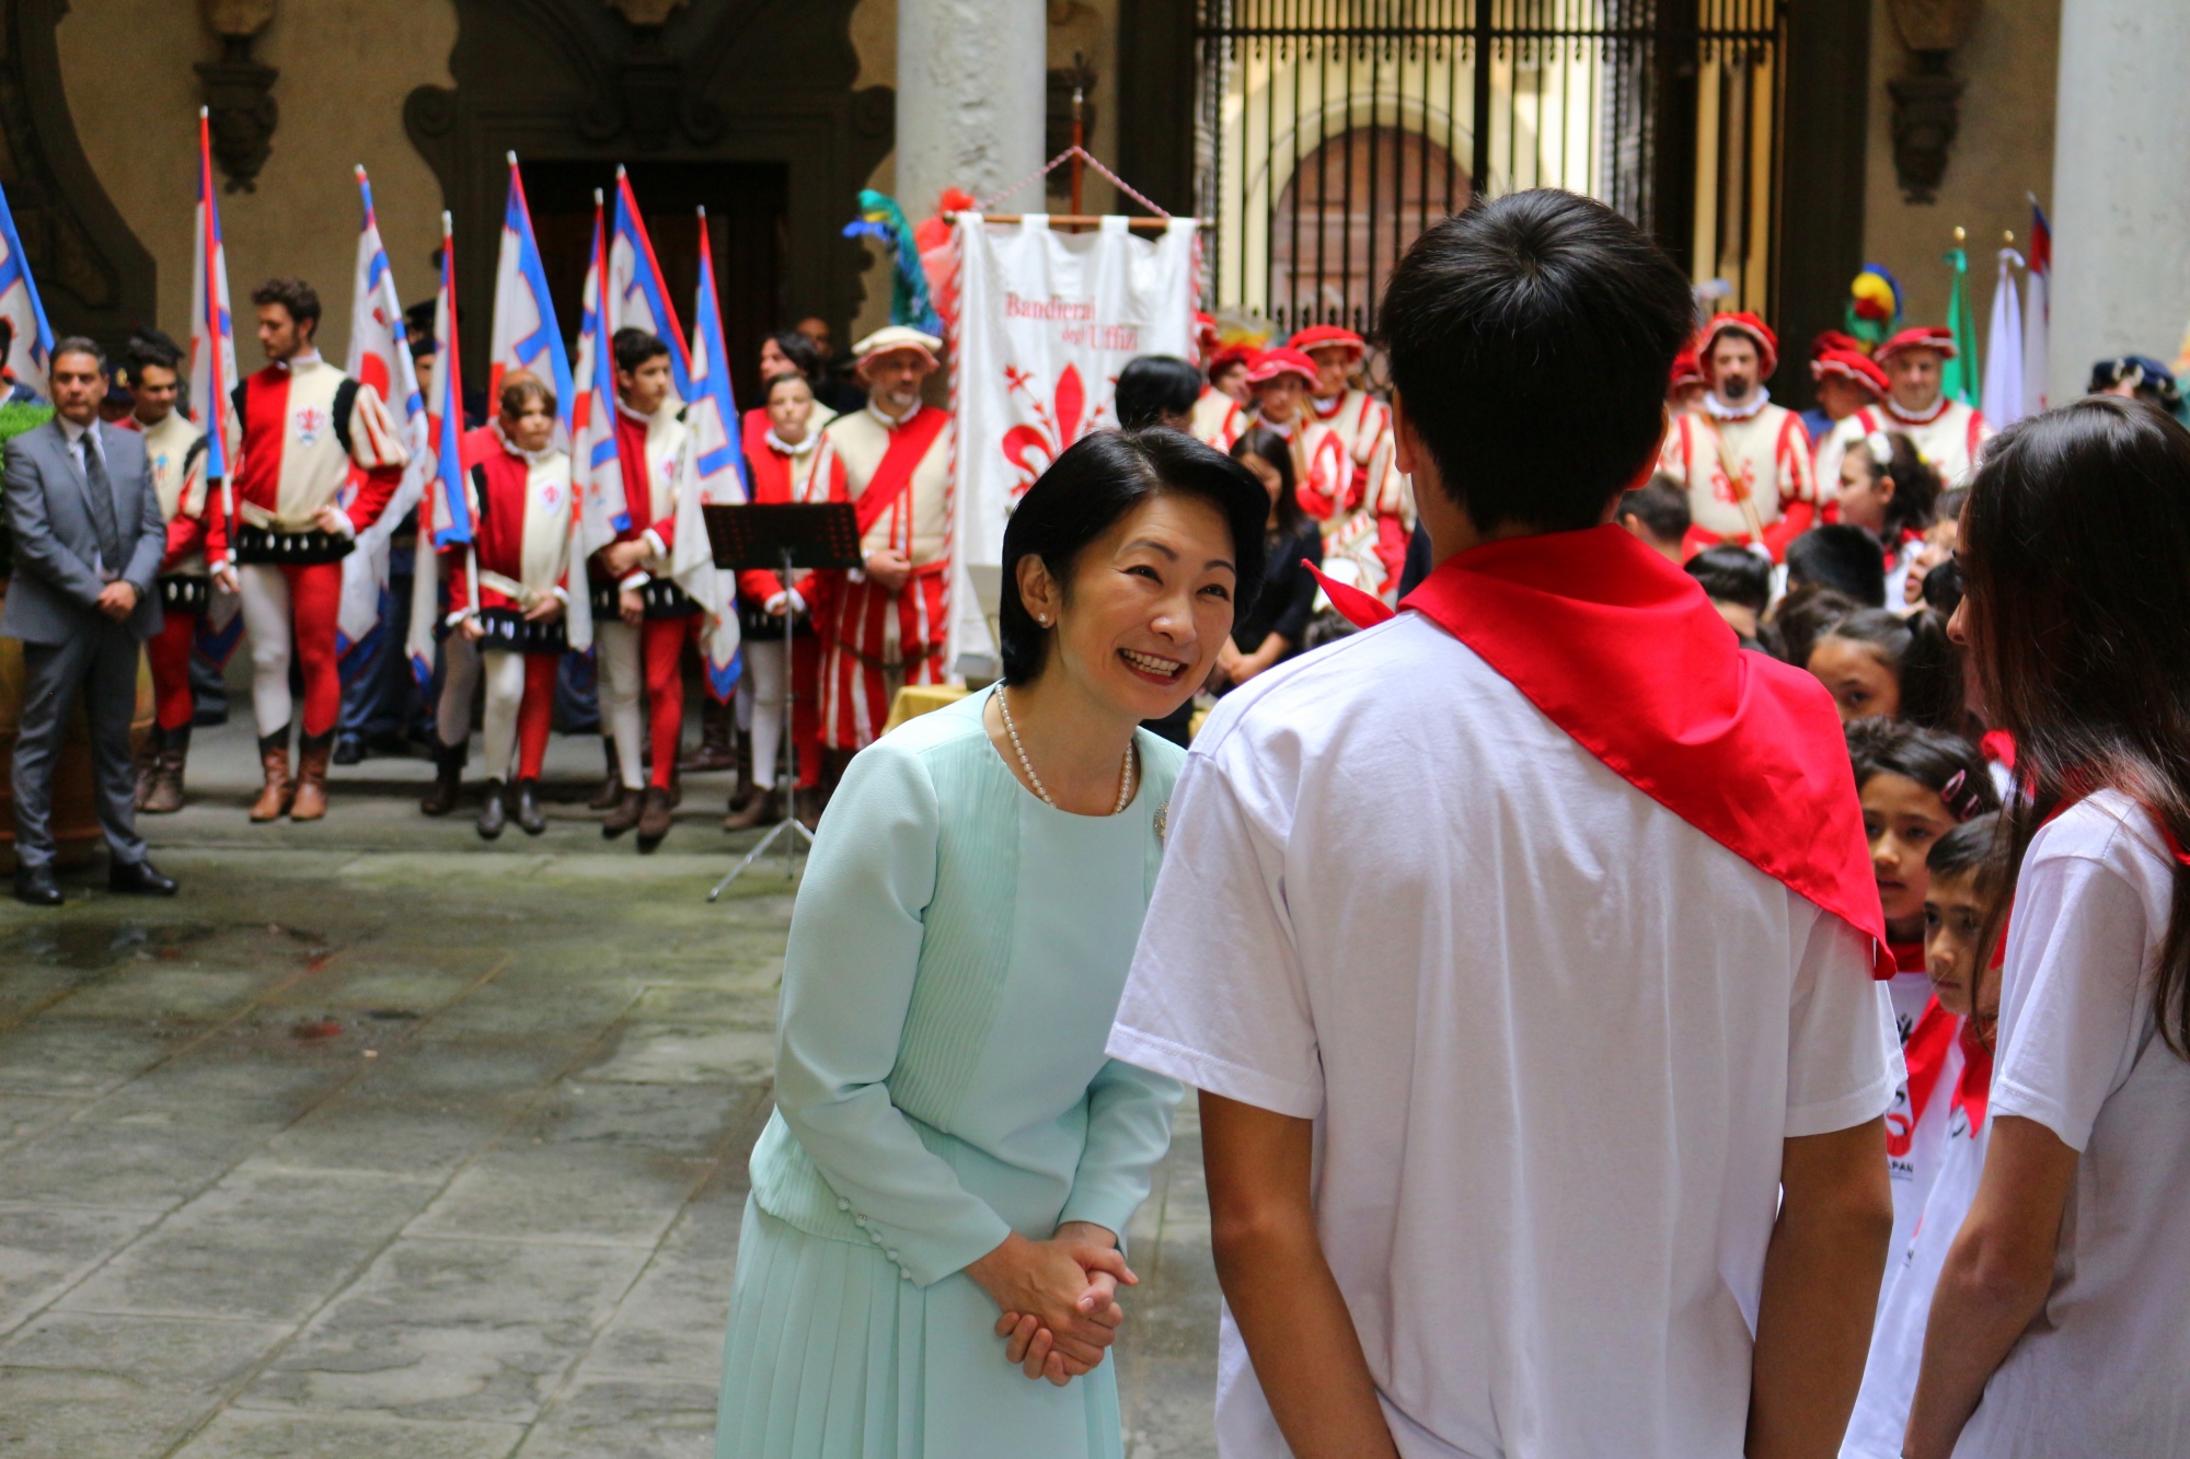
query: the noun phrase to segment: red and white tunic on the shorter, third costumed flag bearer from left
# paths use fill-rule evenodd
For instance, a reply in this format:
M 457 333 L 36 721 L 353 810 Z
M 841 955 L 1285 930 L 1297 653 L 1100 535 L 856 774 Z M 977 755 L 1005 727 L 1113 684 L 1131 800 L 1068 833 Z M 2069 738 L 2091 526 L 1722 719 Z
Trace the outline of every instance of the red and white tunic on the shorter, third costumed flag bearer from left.
M 451 618 L 471 609 L 523 616 L 543 598 L 569 602 L 569 456 L 502 443 L 471 469 L 477 497 L 471 550 L 449 548 Z M 482 648 L 504 648 L 488 633 Z

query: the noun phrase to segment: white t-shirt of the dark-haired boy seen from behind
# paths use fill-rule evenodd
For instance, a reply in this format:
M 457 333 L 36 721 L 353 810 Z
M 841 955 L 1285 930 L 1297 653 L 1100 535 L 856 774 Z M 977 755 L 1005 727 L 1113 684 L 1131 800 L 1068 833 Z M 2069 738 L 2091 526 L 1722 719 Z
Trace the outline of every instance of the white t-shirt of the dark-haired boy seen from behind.
M 1408 1459 L 1739 1455 L 1780 1141 L 1901 1078 L 1853 929 L 1417 613 L 1218 705 L 1110 1052 L 1316 1122 Z M 1218 1446 L 1286 1455 L 1229 1312 Z

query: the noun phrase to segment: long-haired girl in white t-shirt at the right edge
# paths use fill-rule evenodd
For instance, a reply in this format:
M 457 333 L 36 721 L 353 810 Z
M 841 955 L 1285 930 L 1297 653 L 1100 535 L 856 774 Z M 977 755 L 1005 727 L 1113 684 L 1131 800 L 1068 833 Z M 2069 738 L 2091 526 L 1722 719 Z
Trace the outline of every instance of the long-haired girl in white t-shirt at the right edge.
M 2085 399 L 1997 436 L 1956 637 L 2024 795 L 1984 1174 L 1910 1459 L 2190 1452 L 2190 432 Z

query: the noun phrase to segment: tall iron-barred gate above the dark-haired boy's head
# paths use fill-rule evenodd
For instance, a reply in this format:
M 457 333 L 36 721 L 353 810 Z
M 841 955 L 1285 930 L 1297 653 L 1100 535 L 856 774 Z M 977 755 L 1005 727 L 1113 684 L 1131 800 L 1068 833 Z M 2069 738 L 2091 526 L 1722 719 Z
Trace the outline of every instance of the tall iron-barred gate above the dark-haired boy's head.
M 1220 311 L 1369 331 L 1408 243 L 1564 186 L 1767 309 L 1785 0 L 1198 0 Z M 1478 57 L 1485 57 L 1478 64 Z

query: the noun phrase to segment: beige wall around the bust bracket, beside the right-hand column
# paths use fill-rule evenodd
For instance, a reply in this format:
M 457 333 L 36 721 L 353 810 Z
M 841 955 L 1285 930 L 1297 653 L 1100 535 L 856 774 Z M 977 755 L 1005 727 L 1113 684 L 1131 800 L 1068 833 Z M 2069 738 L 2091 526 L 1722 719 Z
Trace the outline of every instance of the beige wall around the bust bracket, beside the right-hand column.
M 2061 0 L 1984 0 L 1975 28 L 1949 61 L 1964 88 L 1947 177 L 1938 202 L 1912 204 L 1894 175 L 1894 103 L 1886 81 L 1914 70 L 1914 59 L 1886 0 L 1872 0 L 1864 259 L 1901 280 L 1910 324 L 1947 320 L 1949 274 L 1940 254 L 1953 248 L 1956 226 L 1969 230 L 1971 305 L 1982 320 L 1993 300 L 2002 230 L 2013 228 L 2019 248 L 2030 232 L 2026 193 L 2052 206 L 2059 50 Z

